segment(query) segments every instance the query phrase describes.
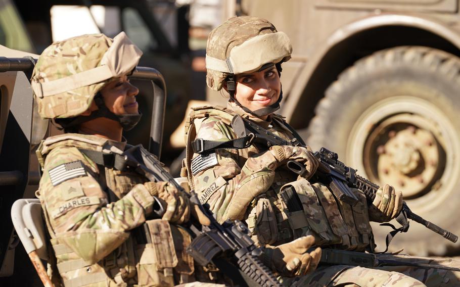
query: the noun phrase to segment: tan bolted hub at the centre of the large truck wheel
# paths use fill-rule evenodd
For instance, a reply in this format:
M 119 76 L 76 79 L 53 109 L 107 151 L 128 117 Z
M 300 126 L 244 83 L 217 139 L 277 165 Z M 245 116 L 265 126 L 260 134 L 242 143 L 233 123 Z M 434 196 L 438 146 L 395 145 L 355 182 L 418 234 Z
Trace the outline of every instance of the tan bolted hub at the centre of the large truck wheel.
M 403 189 L 405 198 L 422 195 L 440 172 L 440 147 L 432 132 L 417 126 L 423 121 L 420 116 L 396 115 L 380 123 L 366 140 L 371 146 L 387 140 L 374 153 L 377 176 L 381 182 Z M 368 162 L 366 169 L 371 164 Z

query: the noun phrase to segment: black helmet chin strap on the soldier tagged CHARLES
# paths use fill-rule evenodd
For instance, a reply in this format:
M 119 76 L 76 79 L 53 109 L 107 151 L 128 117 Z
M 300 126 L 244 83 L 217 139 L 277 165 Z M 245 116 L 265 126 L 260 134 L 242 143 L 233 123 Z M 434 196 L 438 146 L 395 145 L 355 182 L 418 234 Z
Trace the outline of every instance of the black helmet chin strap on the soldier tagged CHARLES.
M 94 102 L 96 103 L 98 110 L 91 112 L 89 116 L 77 116 L 68 122 L 60 121 L 59 124 L 63 128 L 68 128 L 96 118 L 108 118 L 119 122 L 123 130 L 130 130 L 141 120 L 142 113 L 128 115 L 116 115 L 112 113 L 104 104 L 104 100 L 102 99 L 100 93 L 96 94 L 94 97 Z

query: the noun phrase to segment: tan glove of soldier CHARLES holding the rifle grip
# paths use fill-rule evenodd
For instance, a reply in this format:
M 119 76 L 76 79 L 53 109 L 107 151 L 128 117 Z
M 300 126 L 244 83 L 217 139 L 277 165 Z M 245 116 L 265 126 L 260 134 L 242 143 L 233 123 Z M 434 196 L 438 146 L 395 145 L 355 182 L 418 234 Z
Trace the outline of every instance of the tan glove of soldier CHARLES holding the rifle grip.
M 209 225 L 210 220 L 201 212 L 198 205 L 190 202 L 189 195 L 177 190 L 173 185 L 167 182 L 146 182 L 144 185 L 152 196 L 156 196 L 163 207 L 165 213 L 162 219 L 171 223 L 181 224 L 187 222 L 192 214 L 200 224 Z

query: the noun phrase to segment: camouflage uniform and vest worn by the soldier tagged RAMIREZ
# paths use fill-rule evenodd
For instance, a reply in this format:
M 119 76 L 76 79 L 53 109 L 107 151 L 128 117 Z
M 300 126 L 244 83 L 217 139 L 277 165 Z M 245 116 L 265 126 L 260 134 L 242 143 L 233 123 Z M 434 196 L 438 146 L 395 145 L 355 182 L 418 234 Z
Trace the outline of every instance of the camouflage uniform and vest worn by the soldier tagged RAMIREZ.
M 205 155 L 191 151 L 190 142 L 195 138 L 214 141 L 237 138 L 229 125 L 235 114 L 256 122 L 284 139 L 294 137 L 288 124 L 279 115 L 271 115 L 267 121 L 263 121 L 250 117 L 235 103 L 228 103 L 226 109 L 194 108 L 187 123 L 188 158 L 182 176 L 189 177 L 202 203 L 210 205 L 218 220 L 245 220 L 252 231 L 253 240 L 261 246 L 279 245 L 312 234 L 320 247 L 373 250 L 369 224 L 373 214 L 369 212 L 367 202 L 359 190 L 353 190 L 360 199 L 356 206 L 350 207 L 338 202 L 325 185 L 310 184 L 305 179 L 297 179 L 297 175 L 288 170 L 277 169 L 272 155 L 267 152 L 268 148 L 260 145 L 253 144 L 247 149 L 216 149 Z M 303 212 L 294 214 L 287 210 L 279 197 L 280 190 L 286 185 L 295 187 Z M 248 195 L 253 200 L 241 213 L 228 211 L 232 203 Z M 400 261 L 460 266 L 460 262 L 454 259 L 388 254 L 379 256 L 393 257 Z M 299 286 L 347 285 L 347 282 L 358 286 L 457 286 L 460 284 L 459 278 L 459 272 L 435 268 L 398 266 L 370 269 L 335 265 L 320 266 L 310 275 L 285 278 L 284 281 L 288 285 Z

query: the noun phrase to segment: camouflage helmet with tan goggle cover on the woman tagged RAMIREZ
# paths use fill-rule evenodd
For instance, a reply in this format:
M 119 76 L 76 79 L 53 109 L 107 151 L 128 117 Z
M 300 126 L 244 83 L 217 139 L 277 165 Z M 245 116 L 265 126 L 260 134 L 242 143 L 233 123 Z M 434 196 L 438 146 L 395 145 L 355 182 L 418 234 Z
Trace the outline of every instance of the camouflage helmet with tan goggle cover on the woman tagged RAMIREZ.
M 220 90 L 229 74 L 251 73 L 267 63 L 286 62 L 291 54 L 289 37 L 267 20 L 233 17 L 208 36 L 206 82 L 213 90 Z

